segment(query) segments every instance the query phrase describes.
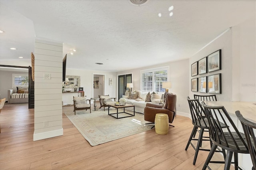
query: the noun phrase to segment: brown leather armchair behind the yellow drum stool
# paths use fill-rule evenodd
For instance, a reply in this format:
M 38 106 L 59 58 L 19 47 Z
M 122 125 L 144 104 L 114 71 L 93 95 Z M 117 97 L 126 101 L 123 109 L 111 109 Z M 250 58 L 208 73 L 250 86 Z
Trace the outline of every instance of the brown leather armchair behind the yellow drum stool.
M 144 109 L 144 120 L 154 124 L 156 113 L 165 113 L 168 115 L 169 123 L 172 123 L 176 114 L 176 95 L 165 93 L 165 103 L 163 105 L 147 103 Z M 171 125 L 172 126 L 172 125 Z M 153 128 L 153 127 L 152 127 Z

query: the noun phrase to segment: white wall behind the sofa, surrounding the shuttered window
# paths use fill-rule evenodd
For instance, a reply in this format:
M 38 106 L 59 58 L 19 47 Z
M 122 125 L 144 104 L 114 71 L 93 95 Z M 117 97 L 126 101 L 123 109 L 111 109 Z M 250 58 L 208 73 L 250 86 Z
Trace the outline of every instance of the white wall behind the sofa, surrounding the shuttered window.
M 152 61 L 153 62 L 153 61 Z M 169 66 L 170 67 L 170 82 L 172 83 L 172 88 L 169 92 L 175 93 L 177 95 L 177 114 L 188 116 L 189 107 L 188 101 L 186 100 L 189 95 L 189 60 L 180 60 L 164 64 L 152 65 L 150 67 L 141 67 L 134 70 L 127 70 L 118 72 L 118 75 L 125 73 L 132 73 L 132 90 L 140 89 L 140 70 L 151 69 L 156 67 Z M 180 105 L 180 106 L 178 106 Z

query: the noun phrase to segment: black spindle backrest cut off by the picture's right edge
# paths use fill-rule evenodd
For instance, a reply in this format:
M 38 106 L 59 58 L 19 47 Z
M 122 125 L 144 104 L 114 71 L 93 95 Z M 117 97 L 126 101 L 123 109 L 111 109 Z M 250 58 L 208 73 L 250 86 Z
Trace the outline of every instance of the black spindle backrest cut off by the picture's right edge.
M 245 119 L 241 115 L 240 111 L 236 111 L 236 116 L 240 120 L 242 127 L 244 129 L 244 134 L 246 136 L 246 141 L 248 143 L 250 156 L 252 158 L 252 164 L 254 166 L 254 169 L 256 169 L 256 137 L 254 133 L 254 130 L 256 132 L 256 123 L 253 123 Z

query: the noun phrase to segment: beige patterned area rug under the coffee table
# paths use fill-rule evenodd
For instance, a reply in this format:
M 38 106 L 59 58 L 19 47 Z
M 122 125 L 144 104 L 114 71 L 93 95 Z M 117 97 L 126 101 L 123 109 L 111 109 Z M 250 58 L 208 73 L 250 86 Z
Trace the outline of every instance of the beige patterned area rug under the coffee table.
M 116 109 L 111 109 L 110 113 L 116 113 Z M 92 111 L 92 113 L 88 110 L 76 111 L 76 115 L 74 112 L 65 113 L 65 115 L 92 146 L 144 132 L 152 127 L 152 125 L 145 125 L 148 121 L 144 121 L 144 115 L 141 113 L 122 119 L 115 119 L 108 115 L 108 109 Z M 118 117 L 122 115 L 124 113 L 118 114 Z

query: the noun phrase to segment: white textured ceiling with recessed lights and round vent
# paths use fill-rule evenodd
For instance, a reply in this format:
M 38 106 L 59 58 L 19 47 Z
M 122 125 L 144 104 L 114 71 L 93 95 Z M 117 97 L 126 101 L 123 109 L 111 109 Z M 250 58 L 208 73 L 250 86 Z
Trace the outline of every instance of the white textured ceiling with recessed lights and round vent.
M 63 42 L 68 68 L 122 71 L 186 59 L 226 29 L 255 17 L 255 4 L 255 0 L 148 0 L 140 6 L 130 0 L 0 0 L 4 31 L 0 64 L 23 56 L 19 63 L 31 65 L 35 36 Z M 172 17 L 169 6 L 174 6 Z M 74 55 L 71 49 L 77 50 Z

